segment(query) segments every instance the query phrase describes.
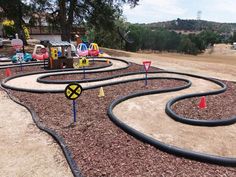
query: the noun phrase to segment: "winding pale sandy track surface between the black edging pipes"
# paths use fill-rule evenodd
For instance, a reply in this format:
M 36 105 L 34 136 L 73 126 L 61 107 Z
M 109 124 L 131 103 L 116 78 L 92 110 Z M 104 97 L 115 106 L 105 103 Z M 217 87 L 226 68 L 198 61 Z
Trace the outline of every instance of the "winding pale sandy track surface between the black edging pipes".
M 112 66 L 86 71 L 87 74 L 124 69 L 129 66 L 125 61 L 109 59 Z M 82 74 L 83 71 L 50 71 L 18 75 L 6 78 L 2 86 L 13 90 L 39 93 L 63 92 L 66 83 L 46 84 L 37 81 L 40 77 L 63 73 Z M 226 90 L 225 85 L 214 79 L 176 72 L 153 72 L 149 73 L 148 78 L 185 79 L 191 83 L 191 86 L 122 97 L 115 100 L 108 110 L 111 120 L 133 136 L 170 153 L 211 163 L 236 166 L 236 124 L 231 122 L 232 124 L 228 126 L 193 126 L 175 121 L 166 114 L 166 104 L 176 97 L 221 93 Z M 91 89 L 140 79 L 144 79 L 144 73 L 103 78 L 82 82 L 81 85 L 84 89 Z

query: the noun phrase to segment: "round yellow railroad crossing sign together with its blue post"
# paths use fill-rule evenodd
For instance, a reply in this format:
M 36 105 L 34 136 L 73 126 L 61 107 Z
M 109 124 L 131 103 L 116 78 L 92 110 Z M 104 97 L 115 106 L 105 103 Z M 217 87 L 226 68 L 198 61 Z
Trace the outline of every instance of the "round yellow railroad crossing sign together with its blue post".
M 65 96 L 67 99 L 72 100 L 73 110 L 73 123 L 76 123 L 76 102 L 75 100 L 81 95 L 83 88 L 78 83 L 70 83 L 65 88 Z

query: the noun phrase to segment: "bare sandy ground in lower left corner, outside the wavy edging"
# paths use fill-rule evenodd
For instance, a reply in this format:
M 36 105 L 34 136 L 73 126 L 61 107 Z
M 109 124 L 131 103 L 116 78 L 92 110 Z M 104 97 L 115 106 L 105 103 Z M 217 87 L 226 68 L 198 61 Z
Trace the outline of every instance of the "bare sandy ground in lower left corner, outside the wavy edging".
M 57 143 L 0 91 L 0 176 L 73 176 Z

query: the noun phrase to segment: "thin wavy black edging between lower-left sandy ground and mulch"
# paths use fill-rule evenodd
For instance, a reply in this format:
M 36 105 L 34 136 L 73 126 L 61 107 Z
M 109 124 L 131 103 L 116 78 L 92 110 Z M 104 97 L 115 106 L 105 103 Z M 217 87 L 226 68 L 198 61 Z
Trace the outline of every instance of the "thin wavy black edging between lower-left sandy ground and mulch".
M 74 161 L 74 159 L 73 159 L 73 157 L 72 157 L 72 154 L 71 154 L 69 148 L 67 147 L 67 145 L 66 145 L 64 139 L 63 139 L 61 136 L 59 136 L 55 131 L 53 131 L 53 130 L 47 128 L 46 126 L 44 126 L 44 125 L 40 122 L 40 120 L 39 120 L 39 118 L 38 118 L 38 115 L 36 114 L 36 112 L 35 112 L 32 108 L 30 108 L 29 106 L 27 106 L 27 105 L 21 103 L 20 101 L 18 101 L 18 100 L 17 100 L 15 97 L 13 97 L 13 96 L 9 93 L 9 91 L 6 90 L 5 88 L 3 88 L 3 87 L 0 87 L 0 88 L 1 88 L 2 90 L 4 90 L 4 91 L 8 94 L 9 98 L 10 98 L 12 101 L 14 101 L 15 103 L 17 103 L 17 104 L 19 104 L 19 105 L 25 107 L 25 108 L 30 112 L 30 114 L 31 114 L 31 116 L 32 116 L 32 119 L 33 119 L 34 123 L 36 124 L 36 126 L 37 126 L 40 130 L 42 130 L 42 131 L 46 132 L 47 134 L 49 134 L 49 135 L 57 142 L 57 144 L 60 146 L 60 148 L 62 149 L 63 154 L 64 154 L 65 157 L 66 157 L 67 163 L 68 163 L 68 165 L 69 165 L 69 167 L 70 167 L 70 169 L 71 169 L 71 172 L 72 172 L 72 174 L 74 175 L 74 177 L 82 177 L 82 174 L 81 174 L 81 172 L 80 172 L 80 169 L 79 169 L 79 167 L 77 166 L 76 162 Z

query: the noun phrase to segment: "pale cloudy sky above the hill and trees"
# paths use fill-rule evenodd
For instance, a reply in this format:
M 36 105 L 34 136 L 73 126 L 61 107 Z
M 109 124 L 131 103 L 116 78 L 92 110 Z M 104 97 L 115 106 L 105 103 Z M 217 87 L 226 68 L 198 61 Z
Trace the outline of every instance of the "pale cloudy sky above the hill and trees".
M 123 8 L 131 23 L 197 19 L 198 11 L 202 20 L 236 23 L 236 0 L 140 0 L 135 8 Z

